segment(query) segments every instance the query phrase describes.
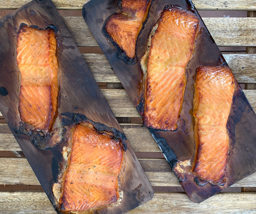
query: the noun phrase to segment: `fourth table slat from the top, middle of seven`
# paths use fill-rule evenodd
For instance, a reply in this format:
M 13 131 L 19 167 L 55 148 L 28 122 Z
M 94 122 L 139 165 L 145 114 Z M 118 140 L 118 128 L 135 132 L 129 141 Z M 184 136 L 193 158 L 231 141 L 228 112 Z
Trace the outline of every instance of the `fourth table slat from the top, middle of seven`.
M 101 91 L 116 117 L 140 117 L 124 89 L 101 89 Z M 256 111 L 256 90 L 244 90 L 244 94 Z

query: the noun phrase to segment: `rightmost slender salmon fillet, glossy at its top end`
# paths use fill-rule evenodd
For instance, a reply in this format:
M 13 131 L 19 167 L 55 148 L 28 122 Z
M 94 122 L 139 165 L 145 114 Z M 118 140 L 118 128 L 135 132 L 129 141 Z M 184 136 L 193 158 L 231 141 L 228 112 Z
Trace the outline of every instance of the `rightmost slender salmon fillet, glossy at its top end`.
M 234 94 L 234 77 L 226 67 L 199 67 L 195 81 L 196 152 L 192 171 L 221 184 L 225 176 L 229 136 L 227 120 Z

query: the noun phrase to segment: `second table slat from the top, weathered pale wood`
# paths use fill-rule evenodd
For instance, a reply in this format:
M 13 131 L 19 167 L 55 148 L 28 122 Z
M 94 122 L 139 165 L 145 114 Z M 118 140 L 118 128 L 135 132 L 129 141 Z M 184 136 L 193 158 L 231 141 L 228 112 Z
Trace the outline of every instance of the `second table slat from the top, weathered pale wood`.
M 83 17 L 62 17 L 77 46 L 98 46 Z M 203 18 L 218 46 L 256 46 L 255 18 Z

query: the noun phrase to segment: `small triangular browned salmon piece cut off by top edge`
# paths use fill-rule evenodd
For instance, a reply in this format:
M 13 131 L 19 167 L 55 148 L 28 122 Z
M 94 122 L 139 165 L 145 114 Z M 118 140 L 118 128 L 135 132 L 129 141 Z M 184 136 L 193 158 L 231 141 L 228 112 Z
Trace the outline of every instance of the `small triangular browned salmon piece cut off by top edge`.
M 106 30 L 113 41 L 133 59 L 137 37 L 148 16 L 151 0 L 122 0 L 122 13 L 113 14 L 106 23 Z

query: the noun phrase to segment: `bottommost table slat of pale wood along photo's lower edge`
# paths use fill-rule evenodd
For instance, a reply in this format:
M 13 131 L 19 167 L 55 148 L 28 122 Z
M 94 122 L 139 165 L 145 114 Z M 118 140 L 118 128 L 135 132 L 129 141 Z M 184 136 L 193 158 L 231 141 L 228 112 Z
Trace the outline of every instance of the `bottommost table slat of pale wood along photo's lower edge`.
M 152 200 L 127 213 L 254 213 L 256 193 L 218 193 L 202 203 L 189 201 L 185 193 L 155 193 Z M 0 212 L 55 214 L 44 192 L 0 192 Z

